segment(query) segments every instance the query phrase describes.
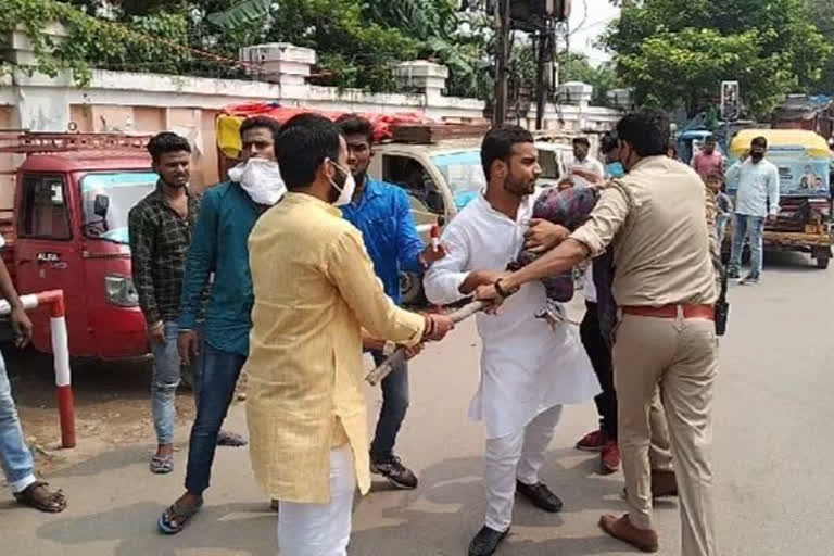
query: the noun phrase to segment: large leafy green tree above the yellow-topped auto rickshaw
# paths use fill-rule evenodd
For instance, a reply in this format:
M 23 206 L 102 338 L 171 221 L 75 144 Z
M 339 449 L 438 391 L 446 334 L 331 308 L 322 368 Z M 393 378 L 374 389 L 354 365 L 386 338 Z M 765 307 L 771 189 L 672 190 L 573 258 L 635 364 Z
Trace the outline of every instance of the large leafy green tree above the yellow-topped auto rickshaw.
M 822 76 L 832 47 L 807 0 L 645 0 L 624 5 L 603 43 L 642 103 L 715 105 L 719 81 L 741 83 L 748 116 L 764 117 L 784 94 Z

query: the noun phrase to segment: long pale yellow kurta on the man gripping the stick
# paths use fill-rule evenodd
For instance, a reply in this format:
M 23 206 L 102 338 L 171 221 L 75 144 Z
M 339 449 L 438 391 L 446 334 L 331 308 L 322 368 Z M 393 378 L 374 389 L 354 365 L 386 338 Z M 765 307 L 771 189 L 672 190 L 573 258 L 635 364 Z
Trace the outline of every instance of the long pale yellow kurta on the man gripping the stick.
M 247 419 L 255 479 L 270 497 L 330 500 L 330 450 L 350 443 L 370 486 L 363 327 L 414 345 L 422 316 L 383 293 L 362 235 L 327 203 L 288 193 L 249 239 L 255 295 Z

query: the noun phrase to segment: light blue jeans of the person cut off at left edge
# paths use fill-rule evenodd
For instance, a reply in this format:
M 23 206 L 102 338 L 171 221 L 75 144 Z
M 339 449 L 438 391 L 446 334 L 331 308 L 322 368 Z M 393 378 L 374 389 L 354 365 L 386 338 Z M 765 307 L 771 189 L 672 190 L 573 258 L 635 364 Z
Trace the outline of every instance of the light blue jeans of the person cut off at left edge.
M 35 460 L 23 440 L 21 420 L 12 399 L 12 387 L 0 355 L 0 464 L 12 492 L 21 492 L 35 479 Z

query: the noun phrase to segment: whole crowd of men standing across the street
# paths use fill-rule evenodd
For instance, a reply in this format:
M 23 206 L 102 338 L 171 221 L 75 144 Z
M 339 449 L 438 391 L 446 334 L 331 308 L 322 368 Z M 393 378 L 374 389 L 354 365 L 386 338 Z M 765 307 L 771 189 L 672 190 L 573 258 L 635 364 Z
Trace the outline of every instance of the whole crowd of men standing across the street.
M 178 533 L 198 514 L 216 446 L 247 443 L 222 430 L 241 372 L 252 468 L 278 511 L 282 555 L 345 555 L 354 494 L 368 492 L 371 473 L 418 486 L 394 450 L 409 403 L 407 366 L 382 381 L 372 439 L 363 392 L 364 351 L 377 364 L 397 346 L 413 357 L 454 328 L 442 313 L 399 306 L 399 274 L 407 270 L 425 273 L 434 304 L 476 298 L 491 307 L 477 316 L 481 380 L 469 415 L 484 426 L 486 513 L 470 556 L 491 555 L 505 539 L 516 493 L 545 511 L 563 508 L 539 471 L 563 406 L 592 397 L 599 429 L 577 447 L 601 452 L 601 472 L 622 463 L 629 506 L 624 516 L 603 516 L 602 529 L 657 552 L 652 501 L 680 493 L 682 554 L 718 554 L 710 456 L 718 250 L 732 216 L 729 274 L 738 276 L 747 237 L 745 282 L 758 282 L 761 228 L 779 211 L 778 176 L 761 138 L 726 170 L 709 138 L 690 167 L 669 156 L 669 129 L 660 111 L 627 115 L 603 140 L 605 165 L 589 155 L 590 141 L 576 139 L 559 188 L 593 190 L 596 204 L 568 229 L 532 218 L 541 173 L 533 137 L 493 128 L 481 150 L 486 188 L 448 224 L 440 247 L 424 244 L 406 193 L 368 175 L 374 129 L 359 116 L 247 119 L 240 163 L 203 195 L 188 187 L 188 141 L 155 136 L 148 150 L 159 184 L 129 215 L 154 356 L 151 472 L 174 469 L 184 366 L 197 404 L 186 490 L 159 516 L 160 530 Z M 735 207 L 724 175 L 740 182 Z M 508 270 L 522 250 L 541 256 Z M 592 257 L 580 343 L 567 319 L 542 318 L 552 307 L 542 279 Z M 24 343 L 31 325 L 2 263 L 0 289 Z M 20 502 L 61 511 L 63 493 L 34 476 L 2 370 L 3 470 Z

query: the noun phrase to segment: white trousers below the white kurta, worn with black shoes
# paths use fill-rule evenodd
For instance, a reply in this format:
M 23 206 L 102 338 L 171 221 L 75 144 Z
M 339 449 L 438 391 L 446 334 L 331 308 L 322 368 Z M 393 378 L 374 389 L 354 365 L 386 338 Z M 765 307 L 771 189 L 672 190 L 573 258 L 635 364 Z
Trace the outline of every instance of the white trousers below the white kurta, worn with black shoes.
M 539 483 L 561 406 L 540 413 L 523 430 L 500 439 L 486 439 L 484 480 L 486 483 L 486 518 L 484 525 L 494 531 L 506 531 L 513 522 L 516 480 Z

